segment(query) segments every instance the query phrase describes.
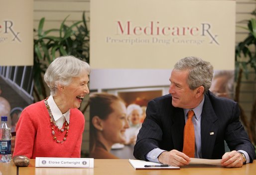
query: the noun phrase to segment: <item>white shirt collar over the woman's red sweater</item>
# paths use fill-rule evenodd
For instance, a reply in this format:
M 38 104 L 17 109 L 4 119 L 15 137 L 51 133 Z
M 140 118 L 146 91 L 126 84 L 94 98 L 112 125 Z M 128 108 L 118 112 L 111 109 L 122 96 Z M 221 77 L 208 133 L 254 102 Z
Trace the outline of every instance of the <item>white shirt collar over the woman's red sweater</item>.
M 55 121 L 60 119 L 62 116 L 65 117 L 66 121 L 69 123 L 69 115 L 70 115 L 70 109 L 65 112 L 64 114 L 61 113 L 60 109 L 58 108 L 57 104 L 55 103 L 53 96 L 50 95 L 49 98 L 47 99 L 47 102 L 50 106 L 53 118 Z

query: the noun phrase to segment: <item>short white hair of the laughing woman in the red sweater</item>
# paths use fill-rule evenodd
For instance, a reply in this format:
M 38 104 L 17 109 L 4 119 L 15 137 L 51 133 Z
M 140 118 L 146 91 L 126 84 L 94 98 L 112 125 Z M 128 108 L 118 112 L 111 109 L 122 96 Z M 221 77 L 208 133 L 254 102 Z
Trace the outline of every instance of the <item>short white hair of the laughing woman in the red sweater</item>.
M 80 76 L 83 71 L 88 75 L 91 73 L 91 67 L 85 61 L 70 55 L 58 57 L 45 71 L 44 81 L 51 95 L 55 95 L 58 85 L 68 86 L 72 78 Z

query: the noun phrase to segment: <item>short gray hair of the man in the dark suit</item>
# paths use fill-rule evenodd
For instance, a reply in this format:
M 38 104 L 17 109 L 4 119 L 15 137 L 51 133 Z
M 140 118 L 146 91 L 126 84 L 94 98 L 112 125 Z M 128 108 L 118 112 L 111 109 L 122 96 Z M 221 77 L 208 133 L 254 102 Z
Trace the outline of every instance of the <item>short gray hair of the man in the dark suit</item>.
M 213 66 L 210 62 L 197 57 L 186 57 L 174 65 L 175 70 L 188 70 L 187 84 L 190 89 L 203 86 L 204 93 L 211 87 L 213 79 Z

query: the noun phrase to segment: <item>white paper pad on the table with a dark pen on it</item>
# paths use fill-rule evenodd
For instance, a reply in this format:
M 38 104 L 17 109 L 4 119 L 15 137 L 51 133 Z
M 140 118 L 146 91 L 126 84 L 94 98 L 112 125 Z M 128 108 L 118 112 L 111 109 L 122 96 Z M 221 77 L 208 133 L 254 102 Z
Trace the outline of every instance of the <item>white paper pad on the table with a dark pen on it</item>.
M 135 170 L 148 170 L 148 169 L 153 169 L 153 170 L 179 170 L 179 167 L 173 167 L 170 165 L 163 165 L 155 162 L 146 162 L 146 161 L 141 161 L 141 160 L 133 160 L 129 159 L 130 165 L 135 169 Z

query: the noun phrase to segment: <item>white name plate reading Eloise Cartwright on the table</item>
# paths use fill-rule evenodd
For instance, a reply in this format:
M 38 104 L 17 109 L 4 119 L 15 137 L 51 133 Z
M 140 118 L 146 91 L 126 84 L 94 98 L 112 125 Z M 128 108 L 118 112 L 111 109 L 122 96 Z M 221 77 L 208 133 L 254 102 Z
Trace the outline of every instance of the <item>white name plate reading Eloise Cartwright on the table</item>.
M 35 167 L 94 168 L 94 159 L 36 157 Z

